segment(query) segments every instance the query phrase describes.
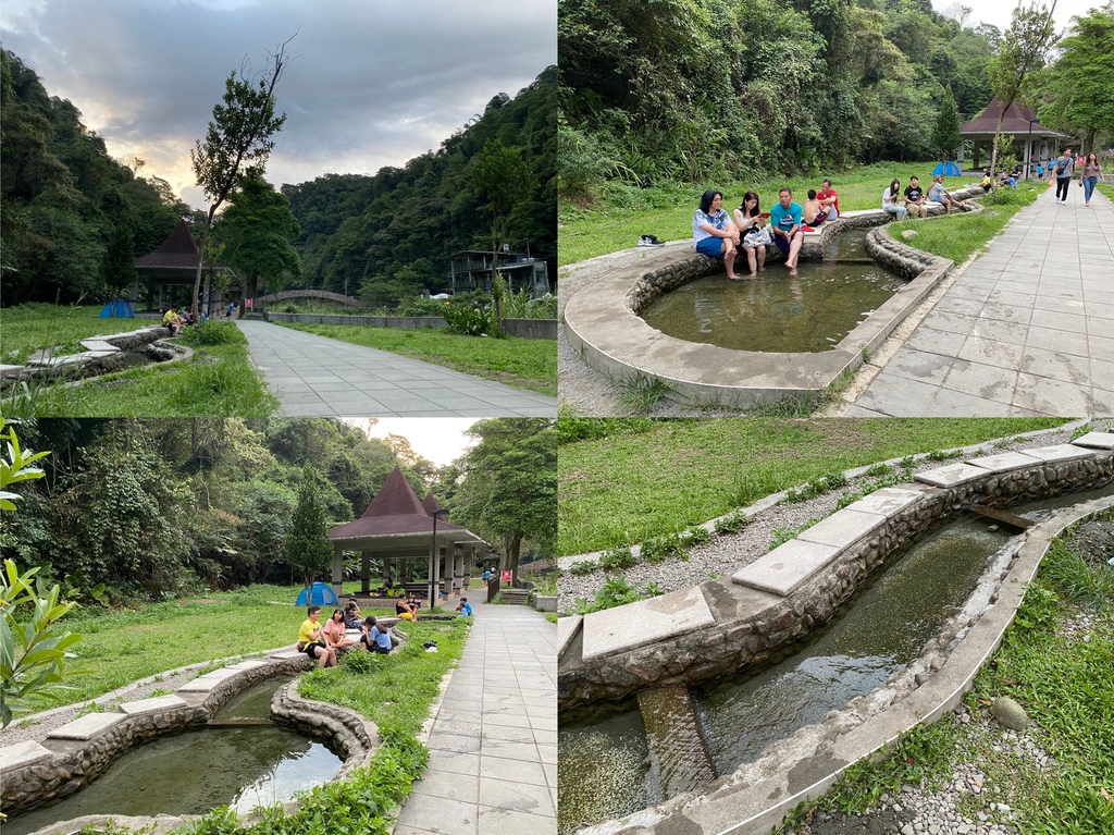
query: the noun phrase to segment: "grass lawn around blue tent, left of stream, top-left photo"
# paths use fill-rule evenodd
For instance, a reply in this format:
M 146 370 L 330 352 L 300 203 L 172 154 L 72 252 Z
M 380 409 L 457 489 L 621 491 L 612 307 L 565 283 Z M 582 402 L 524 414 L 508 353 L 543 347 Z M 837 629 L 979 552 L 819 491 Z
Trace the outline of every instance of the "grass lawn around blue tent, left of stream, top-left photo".
M 98 319 L 104 307 L 31 303 L 0 310 L 2 361 L 20 365 L 35 351 L 47 348 L 56 348 L 57 355 L 77 353 L 82 339 L 158 324 L 156 319 Z

